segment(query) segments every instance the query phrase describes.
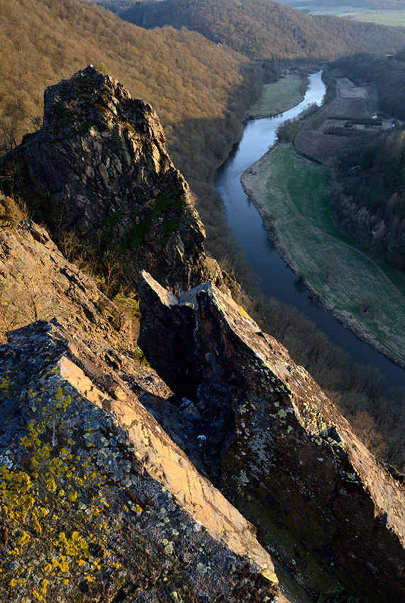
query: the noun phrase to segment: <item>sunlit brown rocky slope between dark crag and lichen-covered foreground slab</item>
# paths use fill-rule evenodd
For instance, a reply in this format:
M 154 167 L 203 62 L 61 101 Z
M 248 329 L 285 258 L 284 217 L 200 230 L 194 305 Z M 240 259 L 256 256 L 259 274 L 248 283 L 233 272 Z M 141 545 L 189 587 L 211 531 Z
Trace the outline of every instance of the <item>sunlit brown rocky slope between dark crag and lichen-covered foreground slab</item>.
M 172 395 L 151 367 L 133 358 L 138 316 L 120 311 L 68 262 L 45 228 L 30 220 L 14 231 L 0 228 L 0 344 L 11 328 L 52 318 L 118 371 L 136 394 Z

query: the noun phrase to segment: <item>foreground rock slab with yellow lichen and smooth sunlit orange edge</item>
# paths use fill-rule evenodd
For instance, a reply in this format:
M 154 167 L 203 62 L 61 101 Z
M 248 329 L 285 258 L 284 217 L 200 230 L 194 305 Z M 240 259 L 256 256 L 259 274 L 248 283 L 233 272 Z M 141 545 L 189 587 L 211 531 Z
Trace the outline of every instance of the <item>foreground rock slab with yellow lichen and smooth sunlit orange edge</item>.
M 56 322 L 0 348 L 0 417 L 1 602 L 274 600 L 253 526 Z

